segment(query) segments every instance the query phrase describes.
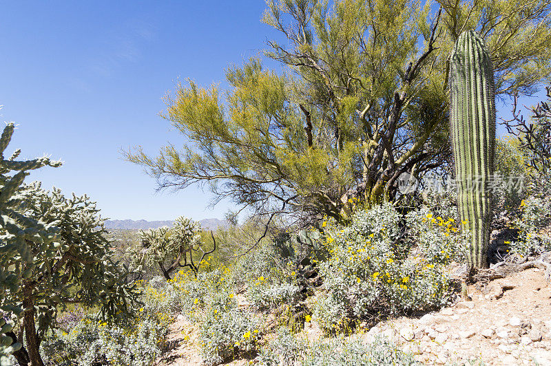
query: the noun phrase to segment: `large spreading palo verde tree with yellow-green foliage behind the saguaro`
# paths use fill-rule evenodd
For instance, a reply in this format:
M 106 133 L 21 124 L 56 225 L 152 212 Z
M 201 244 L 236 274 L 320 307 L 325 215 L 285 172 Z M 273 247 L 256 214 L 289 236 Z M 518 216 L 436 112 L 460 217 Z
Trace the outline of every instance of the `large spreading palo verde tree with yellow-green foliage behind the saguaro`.
M 341 219 L 350 196 L 396 197 L 450 162 L 448 56 L 463 30 L 488 45 L 496 94 L 551 75 L 551 1 L 269 0 L 267 58 L 227 71 L 229 89 L 180 83 L 162 114 L 189 143 L 138 147 L 160 187 L 207 184 L 256 213 Z

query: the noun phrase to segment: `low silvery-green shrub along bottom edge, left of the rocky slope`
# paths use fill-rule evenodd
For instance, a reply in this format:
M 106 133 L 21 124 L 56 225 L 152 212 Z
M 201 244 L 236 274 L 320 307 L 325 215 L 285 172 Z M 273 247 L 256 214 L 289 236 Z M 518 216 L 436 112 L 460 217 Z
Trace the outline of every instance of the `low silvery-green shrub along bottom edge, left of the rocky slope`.
M 309 342 L 287 328 L 262 348 L 258 365 L 414 365 L 413 356 L 405 354 L 386 338 L 364 344 L 360 339 L 333 338 Z

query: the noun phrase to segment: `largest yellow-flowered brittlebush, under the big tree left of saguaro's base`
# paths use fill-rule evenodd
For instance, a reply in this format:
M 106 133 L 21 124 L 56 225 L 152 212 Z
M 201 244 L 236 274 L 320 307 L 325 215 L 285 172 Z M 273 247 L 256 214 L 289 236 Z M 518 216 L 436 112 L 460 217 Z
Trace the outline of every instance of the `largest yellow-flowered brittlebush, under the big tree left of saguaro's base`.
M 353 319 L 439 308 L 450 298 L 441 265 L 407 257 L 397 239 L 399 215 L 390 204 L 357 211 L 349 226 L 326 224 L 331 254 L 319 264 L 326 299 L 314 317 L 324 332 L 342 330 Z

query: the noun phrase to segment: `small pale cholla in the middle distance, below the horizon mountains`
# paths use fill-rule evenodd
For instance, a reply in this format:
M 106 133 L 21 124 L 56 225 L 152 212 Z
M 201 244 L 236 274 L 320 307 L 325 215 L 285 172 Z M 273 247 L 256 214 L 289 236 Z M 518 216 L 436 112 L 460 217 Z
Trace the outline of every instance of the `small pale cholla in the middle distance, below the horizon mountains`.
M 158 266 L 165 279 L 171 279 L 174 271 L 189 268 L 197 275 L 205 256 L 216 250 L 216 239 L 211 232 L 213 248 L 205 250 L 201 240 L 200 225 L 187 217 L 180 216 L 174 226 L 140 230 L 141 244 L 129 248 L 134 270 Z M 196 259 L 194 259 L 194 256 Z M 197 259 L 197 257 L 199 257 Z

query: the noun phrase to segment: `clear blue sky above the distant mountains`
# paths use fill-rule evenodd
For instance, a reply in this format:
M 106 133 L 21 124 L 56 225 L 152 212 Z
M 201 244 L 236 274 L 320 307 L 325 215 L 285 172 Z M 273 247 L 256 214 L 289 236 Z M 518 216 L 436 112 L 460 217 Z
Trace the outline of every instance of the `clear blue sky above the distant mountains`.
M 60 158 L 30 180 L 87 193 L 112 219 L 222 218 L 198 187 L 156 193 L 121 149 L 156 153 L 178 133 L 158 116 L 178 78 L 220 83 L 275 32 L 264 1 L 10 1 L 0 12 L 0 120 L 19 124 L 8 150 Z

